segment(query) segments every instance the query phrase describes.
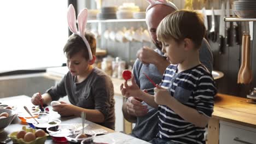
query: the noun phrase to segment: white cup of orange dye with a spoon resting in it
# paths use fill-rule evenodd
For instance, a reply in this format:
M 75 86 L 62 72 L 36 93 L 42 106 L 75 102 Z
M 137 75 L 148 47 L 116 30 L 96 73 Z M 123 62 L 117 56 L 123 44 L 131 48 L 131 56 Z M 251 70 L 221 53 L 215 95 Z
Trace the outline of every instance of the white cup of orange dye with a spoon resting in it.
M 31 108 L 31 109 L 28 109 L 28 110 L 30 110 L 30 112 L 31 112 L 31 114 L 34 118 L 39 117 L 39 114 L 40 114 L 40 111 L 41 111 L 40 109 Z M 26 119 L 33 118 L 25 110 L 18 112 L 18 117 L 20 118 L 21 123 L 26 123 L 27 122 Z

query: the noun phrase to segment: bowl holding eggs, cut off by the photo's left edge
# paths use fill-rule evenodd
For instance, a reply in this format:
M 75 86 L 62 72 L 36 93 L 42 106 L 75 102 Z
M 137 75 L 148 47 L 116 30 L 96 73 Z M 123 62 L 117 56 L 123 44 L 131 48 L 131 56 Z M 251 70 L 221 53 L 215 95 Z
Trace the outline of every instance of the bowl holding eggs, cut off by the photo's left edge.
M 9 109 L 0 109 L 0 133 L 13 121 L 16 112 Z

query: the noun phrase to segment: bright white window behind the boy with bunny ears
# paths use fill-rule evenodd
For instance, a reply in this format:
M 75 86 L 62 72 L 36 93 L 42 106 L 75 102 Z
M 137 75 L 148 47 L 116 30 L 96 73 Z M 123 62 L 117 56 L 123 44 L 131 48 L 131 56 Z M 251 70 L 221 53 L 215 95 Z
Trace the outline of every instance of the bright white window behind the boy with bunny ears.
M 66 62 L 67 0 L 8 0 L 1 6 L 0 73 Z

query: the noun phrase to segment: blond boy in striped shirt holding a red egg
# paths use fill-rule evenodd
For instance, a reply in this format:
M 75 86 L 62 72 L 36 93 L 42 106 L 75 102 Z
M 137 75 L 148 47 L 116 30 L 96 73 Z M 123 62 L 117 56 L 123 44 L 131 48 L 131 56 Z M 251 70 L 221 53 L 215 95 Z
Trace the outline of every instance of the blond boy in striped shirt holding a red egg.
M 121 85 L 125 97 L 137 97 L 158 107 L 159 133 L 152 143 L 205 143 L 205 127 L 212 115 L 217 93 L 211 73 L 199 61 L 205 36 L 202 16 L 178 10 L 160 22 L 156 31 L 162 52 L 171 64 L 155 94 L 144 93 L 135 79 Z

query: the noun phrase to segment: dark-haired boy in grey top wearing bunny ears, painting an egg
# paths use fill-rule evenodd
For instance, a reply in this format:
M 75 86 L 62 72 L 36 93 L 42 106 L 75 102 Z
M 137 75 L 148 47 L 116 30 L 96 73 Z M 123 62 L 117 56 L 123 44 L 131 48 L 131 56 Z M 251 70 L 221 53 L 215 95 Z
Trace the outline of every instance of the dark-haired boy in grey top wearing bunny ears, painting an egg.
M 63 52 L 67 57 L 68 73 L 42 96 L 35 93 L 31 99 L 34 105 L 40 101 L 49 104 L 53 100 L 68 96 L 71 104 L 61 102 L 54 105 L 54 111 L 61 116 L 80 116 L 86 113 L 86 119 L 104 127 L 115 129 L 114 88 L 110 77 L 94 67 L 96 39 L 85 32 L 87 9 L 78 15 L 77 31 L 73 5 L 68 7 L 68 25 L 73 34 L 69 37 Z

